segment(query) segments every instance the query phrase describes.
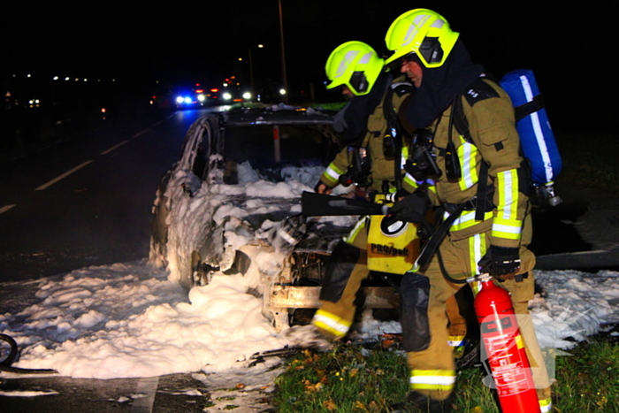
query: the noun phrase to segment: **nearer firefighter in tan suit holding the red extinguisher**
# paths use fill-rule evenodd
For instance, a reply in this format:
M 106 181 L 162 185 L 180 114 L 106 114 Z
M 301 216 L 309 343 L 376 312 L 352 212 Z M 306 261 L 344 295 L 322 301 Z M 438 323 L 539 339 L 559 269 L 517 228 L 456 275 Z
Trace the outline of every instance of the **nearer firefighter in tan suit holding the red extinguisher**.
M 446 218 L 463 208 L 430 261 L 402 280 L 402 330 L 410 369 L 406 405 L 451 411 L 456 376 L 446 344 L 445 308 L 462 284 L 448 281 L 445 272 L 465 279 L 484 266 L 522 315 L 518 321 L 540 409 L 546 412 L 552 409 L 550 384 L 527 317 L 535 256 L 527 249 L 531 206 L 514 109 L 507 94 L 470 61 L 458 37 L 446 19 L 426 9 L 402 14 L 386 34 L 387 48 L 394 51 L 386 65 L 416 86 L 403 109 L 408 124 L 433 133 L 440 173 L 428 195 L 446 210 Z

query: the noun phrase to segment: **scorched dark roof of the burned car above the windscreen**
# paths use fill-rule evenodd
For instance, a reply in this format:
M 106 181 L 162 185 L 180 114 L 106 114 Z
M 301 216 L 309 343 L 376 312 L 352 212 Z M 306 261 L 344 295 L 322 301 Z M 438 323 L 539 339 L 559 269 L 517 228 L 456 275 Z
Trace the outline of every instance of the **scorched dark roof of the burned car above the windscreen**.
M 223 113 L 223 126 L 331 125 L 334 113 L 281 105 L 267 108 L 240 108 Z

